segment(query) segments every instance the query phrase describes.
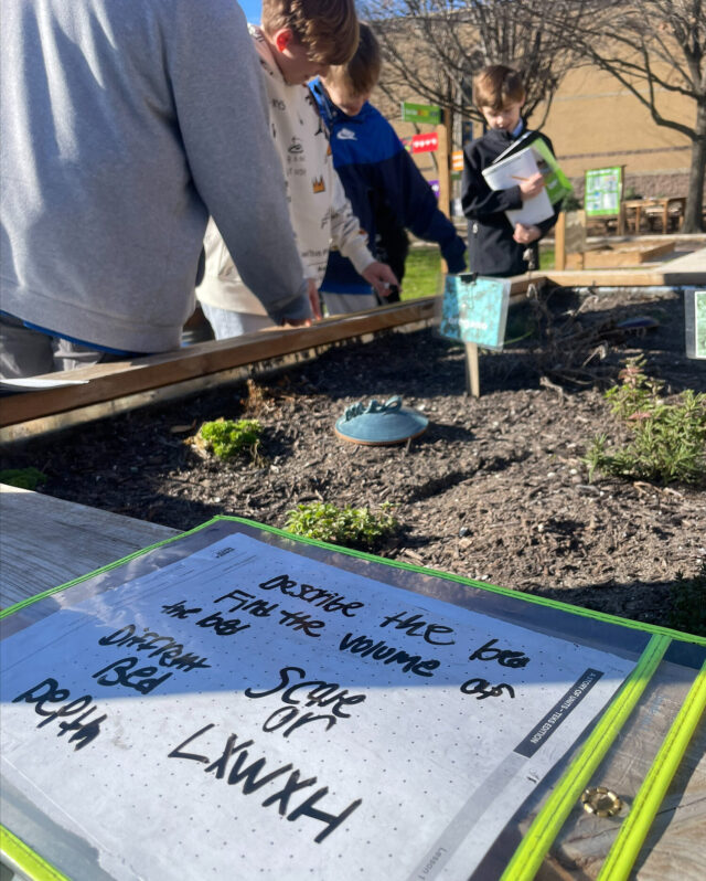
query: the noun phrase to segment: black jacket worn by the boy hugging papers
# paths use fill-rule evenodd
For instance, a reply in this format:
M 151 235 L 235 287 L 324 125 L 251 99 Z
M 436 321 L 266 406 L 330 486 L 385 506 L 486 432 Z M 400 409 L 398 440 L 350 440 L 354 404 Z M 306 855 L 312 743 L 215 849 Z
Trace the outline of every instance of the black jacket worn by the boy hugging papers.
M 526 129 L 523 128 L 520 135 Z M 541 135 L 549 147 L 552 141 Z M 463 214 L 469 219 L 468 224 L 468 258 L 472 273 L 488 276 L 507 277 L 522 275 L 528 268 L 539 265 L 538 240 L 532 245 L 521 245 L 512 237 L 514 229 L 505 211 L 522 208 L 522 193 L 520 187 L 509 190 L 491 190 L 481 173 L 500 153 L 516 140 L 509 131 L 490 129 L 482 138 L 477 138 L 466 145 L 463 150 L 463 179 L 461 183 L 461 205 Z M 554 216 L 536 225 L 545 235 L 556 223 L 559 215 L 560 203 L 554 206 Z M 533 265 L 524 259 L 524 253 L 530 247 L 533 253 Z

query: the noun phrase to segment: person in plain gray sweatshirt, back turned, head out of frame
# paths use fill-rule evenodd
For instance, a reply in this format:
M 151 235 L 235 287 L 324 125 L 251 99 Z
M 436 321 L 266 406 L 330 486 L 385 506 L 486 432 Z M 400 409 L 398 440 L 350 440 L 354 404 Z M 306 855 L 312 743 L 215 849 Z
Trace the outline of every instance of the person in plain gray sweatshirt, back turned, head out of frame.
M 0 375 L 176 349 L 210 214 L 272 320 L 308 320 L 237 3 L 2 6 Z

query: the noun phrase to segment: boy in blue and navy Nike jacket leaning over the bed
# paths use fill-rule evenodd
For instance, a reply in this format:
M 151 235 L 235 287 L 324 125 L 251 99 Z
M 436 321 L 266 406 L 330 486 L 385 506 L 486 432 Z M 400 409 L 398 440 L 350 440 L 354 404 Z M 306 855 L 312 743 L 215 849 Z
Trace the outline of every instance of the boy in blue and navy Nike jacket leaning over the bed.
M 383 203 L 418 238 L 439 244 L 450 273 L 462 273 L 463 240 L 439 211 L 431 188 L 394 128 L 368 103 L 381 64 L 377 40 L 361 22 L 359 46 L 351 61 L 331 67 L 310 84 L 329 128 L 333 167 L 371 243 L 376 234 L 375 209 Z M 334 250 L 320 293 L 330 314 L 360 311 L 375 302 L 371 286 Z

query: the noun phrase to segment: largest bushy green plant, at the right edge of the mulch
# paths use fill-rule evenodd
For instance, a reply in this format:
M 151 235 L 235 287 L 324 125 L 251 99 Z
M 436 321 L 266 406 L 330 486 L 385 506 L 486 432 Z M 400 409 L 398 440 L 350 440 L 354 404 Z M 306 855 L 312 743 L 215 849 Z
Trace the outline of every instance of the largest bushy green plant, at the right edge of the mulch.
M 584 458 L 589 479 L 598 469 L 614 477 L 698 484 L 706 477 L 706 394 L 687 389 L 677 403 L 667 404 L 660 397 L 663 383 L 650 380 L 644 365 L 642 355 L 629 359 L 621 384 L 606 392 L 632 442 L 609 450 L 606 435 L 596 437 Z

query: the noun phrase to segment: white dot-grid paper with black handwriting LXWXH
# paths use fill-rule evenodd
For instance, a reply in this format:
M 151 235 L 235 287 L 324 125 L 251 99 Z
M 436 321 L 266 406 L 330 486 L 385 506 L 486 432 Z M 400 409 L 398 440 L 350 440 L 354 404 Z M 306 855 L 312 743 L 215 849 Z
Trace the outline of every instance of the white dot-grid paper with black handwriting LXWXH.
M 282 575 L 339 607 L 259 586 Z M 466 879 L 633 668 L 242 534 L 60 596 L 0 644 L 2 772 L 118 881 Z M 242 629 L 197 625 L 214 613 Z M 128 644 L 146 633 L 149 648 Z M 407 670 L 384 662 L 397 650 Z M 61 723 L 79 713 L 51 713 L 81 698 L 86 724 L 106 718 L 75 749 Z

